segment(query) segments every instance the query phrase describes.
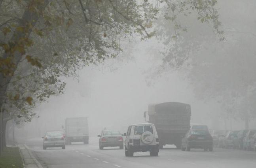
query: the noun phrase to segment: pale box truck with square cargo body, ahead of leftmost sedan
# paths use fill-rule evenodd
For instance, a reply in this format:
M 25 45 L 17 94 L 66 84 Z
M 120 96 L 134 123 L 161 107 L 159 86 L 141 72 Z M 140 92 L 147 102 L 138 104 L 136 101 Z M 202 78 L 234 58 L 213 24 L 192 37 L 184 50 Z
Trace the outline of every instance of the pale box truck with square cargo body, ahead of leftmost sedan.
M 65 121 L 66 144 L 72 142 L 89 143 L 89 128 L 87 117 L 66 118 Z

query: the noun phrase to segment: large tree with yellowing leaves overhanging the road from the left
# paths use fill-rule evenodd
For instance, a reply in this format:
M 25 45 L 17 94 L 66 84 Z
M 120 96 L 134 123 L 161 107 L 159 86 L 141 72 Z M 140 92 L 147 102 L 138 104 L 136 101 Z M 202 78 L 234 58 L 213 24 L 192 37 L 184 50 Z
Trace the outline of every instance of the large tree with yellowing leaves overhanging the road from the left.
M 166 14 L 159 13 L 159 4 Z M 150 38 L 158 17 L 174 22 L 178 30 L 181 25 L 173 13 L 194 11 L 201 22 L 212 21 L 221 35 L 215 4 L 216 0 L 1 0 L 0 112 L 5 122 L 30 121 L 36 103 L 63 93 L 60 76 L 76 76 L 76 70 L 88 64 L 117 57 L 123 38 Z

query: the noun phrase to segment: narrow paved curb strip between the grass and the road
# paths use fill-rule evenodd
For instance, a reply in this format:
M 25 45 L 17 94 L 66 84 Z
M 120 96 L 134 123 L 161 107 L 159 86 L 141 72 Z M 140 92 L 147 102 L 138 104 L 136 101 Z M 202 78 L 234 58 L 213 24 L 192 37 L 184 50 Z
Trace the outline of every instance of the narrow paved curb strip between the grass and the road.
M 25 168 L 43 168 L 27 145 L 18 145 L 18 147 L 21 151 L 21 157 L 25 164 Z

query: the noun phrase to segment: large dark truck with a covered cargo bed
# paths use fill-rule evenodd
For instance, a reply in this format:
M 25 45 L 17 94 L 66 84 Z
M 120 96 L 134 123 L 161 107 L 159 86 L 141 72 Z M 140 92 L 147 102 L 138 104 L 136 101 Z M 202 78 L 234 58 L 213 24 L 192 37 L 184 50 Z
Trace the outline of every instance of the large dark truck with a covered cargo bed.
M 181 148 L 181 136 L 190 129 L 191 109 L 189 104 L 180 102 L 165 102 L 150 104 L 144 112 L 146 121 L 148 113 L 149 123 L 153 123 L 159 136 L 159 149 L 163 145 L 174 144 Z

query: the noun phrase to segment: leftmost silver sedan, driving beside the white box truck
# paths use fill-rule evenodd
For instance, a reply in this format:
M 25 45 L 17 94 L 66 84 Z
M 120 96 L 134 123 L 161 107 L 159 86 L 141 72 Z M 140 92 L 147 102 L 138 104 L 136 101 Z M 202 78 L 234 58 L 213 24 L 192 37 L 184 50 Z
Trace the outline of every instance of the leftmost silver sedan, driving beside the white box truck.
M 43 149 L 47 147 L 62 147 L 65 149 L 65 138 L 61 131 L 49 131 L 46 132 L 45 136 L 42 137 L 43 141 Z

